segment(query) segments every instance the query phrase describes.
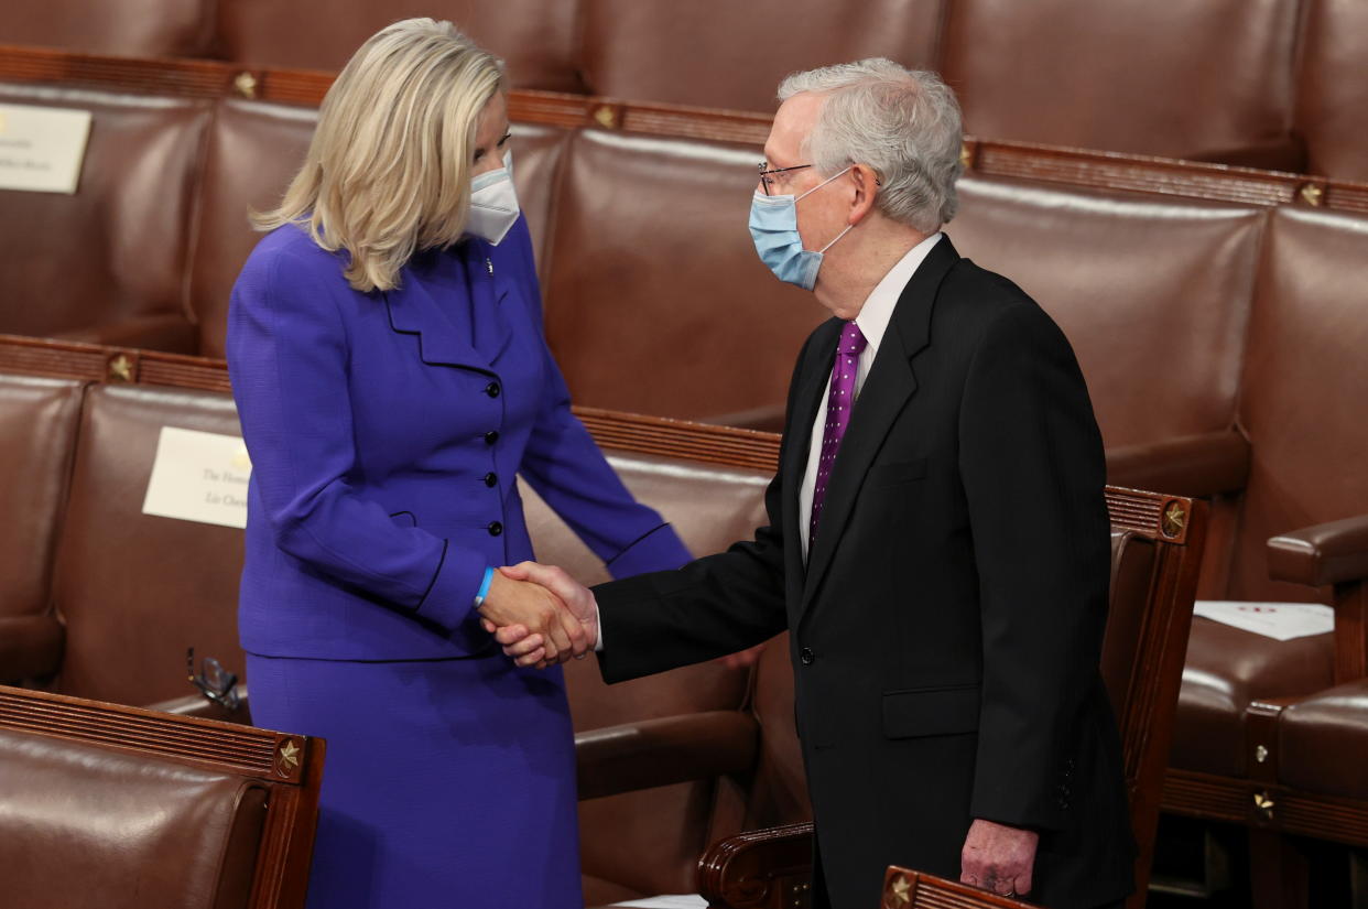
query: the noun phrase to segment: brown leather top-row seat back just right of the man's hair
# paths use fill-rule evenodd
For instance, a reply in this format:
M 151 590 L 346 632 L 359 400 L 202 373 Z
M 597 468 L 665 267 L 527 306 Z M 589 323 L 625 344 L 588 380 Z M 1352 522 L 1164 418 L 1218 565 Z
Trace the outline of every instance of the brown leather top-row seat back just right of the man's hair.
M 941 68 L 977 136 L 1295 170 L 1295 0 L 955 0 Z

